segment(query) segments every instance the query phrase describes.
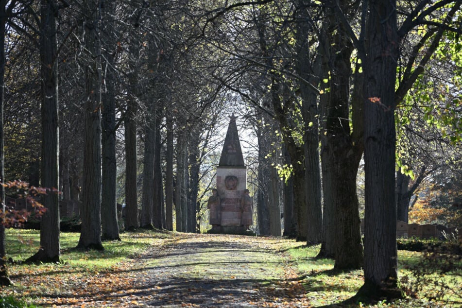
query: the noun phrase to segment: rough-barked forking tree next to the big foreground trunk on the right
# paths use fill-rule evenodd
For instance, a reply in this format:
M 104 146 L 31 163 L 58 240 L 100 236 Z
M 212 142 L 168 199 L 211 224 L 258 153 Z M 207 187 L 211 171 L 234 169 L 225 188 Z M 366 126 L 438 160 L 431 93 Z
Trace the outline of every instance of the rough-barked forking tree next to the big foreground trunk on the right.
M 348 1 L 339 4 L 345 14 L 349 10 L 355 11 L 356 6 L 349 6 Z M 335 257 L 335 268 L 339 270 L 359 269 L 363 256 L 356 176 L 363 152 L 360 94 L 363 77 L 357 68 L 350 97 L 353 44 L 342 22 L 335 16 L 334 8 L 325 9 L 318 35 L 323 71 L 329 72 L 322 77 L 323 94 L 320 98 L 325 239 L 319 257 Z

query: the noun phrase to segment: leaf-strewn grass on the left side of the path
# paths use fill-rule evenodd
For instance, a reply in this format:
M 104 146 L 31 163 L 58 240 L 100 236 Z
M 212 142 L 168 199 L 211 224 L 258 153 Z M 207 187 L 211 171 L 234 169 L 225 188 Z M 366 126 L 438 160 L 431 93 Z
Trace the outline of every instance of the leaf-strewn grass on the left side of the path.
M 7 229 L 6 253 L 18 264 L 9 264 L 8 273 L 14 286 L 2 288 L 0 297 L 14 296 L 28 303 L 40 302 L 39 298 L 75 297 L 94 295 L 92 291 L 130 283 L 133 264 L 130 260 L 139 256 L 150 246 L 160 244 L 171 233 L 154 231 L 125 232 L 120 234 L 121 241 L 103 242 L 104 251 L 77 250 L 79 233 L 61 233 L 61 263 L 24 265 L 20 261 L 32 256 L 39 249 L 39 231 Z M 124 279 L 117 274 L 124 273 Z M 99 288 L 99 289 L 98 289 Z M 59 301 L 44 304 L 60 304 Z

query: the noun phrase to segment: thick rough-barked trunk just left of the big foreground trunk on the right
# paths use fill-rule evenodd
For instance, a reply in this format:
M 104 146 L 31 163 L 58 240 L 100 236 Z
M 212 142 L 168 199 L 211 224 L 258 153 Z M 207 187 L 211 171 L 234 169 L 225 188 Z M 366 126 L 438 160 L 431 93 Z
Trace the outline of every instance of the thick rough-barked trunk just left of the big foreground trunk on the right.
M 344 1 L 342 5 L 349 5 Z M 342 24 L 329 10 L 325 20 L 323 44 L 324 70 L 330 71 L 330 78 L 322 98 L 324 103 L 325 134 L 323 137 L 323 162 L 326 173 L 325 206 L 332 217 L 326 236 L 329 244 L 335 243 L 335 269 L 359 269 L 363 254 L 359 228 L 359 204 L 356 192 L 356 176 L 362 155 L 362 144 L 351 136 L 350 113 L 350 57 L 353 51 Z M 356 77 L 359 77 L 358 74 Z M 361 86 L 357 83 L 355 86 Z M 354 110 L 356 112 L 356 110 Z M 333 213 L 332 213 L 333 209 Z M 335 228 L 335 231 L 333 230 Z M 335 232 L 335 236 L 333 236 Z M 326 242 L 327 244 L 327 242 Z

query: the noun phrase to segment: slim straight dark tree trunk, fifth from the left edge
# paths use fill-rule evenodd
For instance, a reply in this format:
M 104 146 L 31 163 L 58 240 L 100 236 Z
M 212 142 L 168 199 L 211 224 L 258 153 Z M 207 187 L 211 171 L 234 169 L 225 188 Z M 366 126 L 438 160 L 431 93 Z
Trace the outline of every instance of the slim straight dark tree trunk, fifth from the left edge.
M 130 43 L 129 99 L 125 114 L 125 229 L 138 227 L 137 204 L 137 93 L 139 47 L 137 33 Z

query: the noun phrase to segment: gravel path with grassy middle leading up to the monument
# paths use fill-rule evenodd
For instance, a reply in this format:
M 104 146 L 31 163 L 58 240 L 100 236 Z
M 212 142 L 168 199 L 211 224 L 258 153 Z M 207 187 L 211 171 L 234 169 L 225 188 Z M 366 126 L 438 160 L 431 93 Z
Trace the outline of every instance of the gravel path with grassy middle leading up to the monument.
M 305 307 L 282 239 L 180 235 L 138 259 L 137 307 Z M 139 266 L 138 265 L 138 266 Z

